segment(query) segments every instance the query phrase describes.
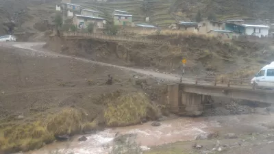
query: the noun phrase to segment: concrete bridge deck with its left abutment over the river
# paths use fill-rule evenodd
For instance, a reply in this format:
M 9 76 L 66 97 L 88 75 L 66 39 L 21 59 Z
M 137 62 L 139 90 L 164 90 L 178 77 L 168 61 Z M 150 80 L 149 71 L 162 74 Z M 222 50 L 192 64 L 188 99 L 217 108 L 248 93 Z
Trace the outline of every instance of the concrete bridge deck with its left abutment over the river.
M 198 116 L 202 114 L 203 106 L 208 104 L 211 96 L 274 103 L 272 90 L 179 83 L 168 86 L 167 106 L 174 114 Z

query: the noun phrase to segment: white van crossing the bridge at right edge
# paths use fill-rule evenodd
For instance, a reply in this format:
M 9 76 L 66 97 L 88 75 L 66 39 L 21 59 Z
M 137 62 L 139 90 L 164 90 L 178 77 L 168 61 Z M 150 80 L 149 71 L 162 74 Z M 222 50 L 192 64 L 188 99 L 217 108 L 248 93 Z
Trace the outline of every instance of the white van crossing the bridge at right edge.
M 251 84 L 255 84 L 256 88 L 274 88 L 274 62 L 264 66 L 258 73 L 251 79 Z

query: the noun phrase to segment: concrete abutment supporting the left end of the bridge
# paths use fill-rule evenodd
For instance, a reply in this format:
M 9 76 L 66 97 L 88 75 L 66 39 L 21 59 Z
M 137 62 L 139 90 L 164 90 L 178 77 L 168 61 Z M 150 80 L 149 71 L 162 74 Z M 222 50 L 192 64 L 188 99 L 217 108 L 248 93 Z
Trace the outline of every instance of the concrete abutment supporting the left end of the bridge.
M 203 113 L 203 103 L 208 97 L 203 94 L 184 92 L 182 85 L 171 84 L 168 86 L 169 111 L 182 116 L 199 116 Z

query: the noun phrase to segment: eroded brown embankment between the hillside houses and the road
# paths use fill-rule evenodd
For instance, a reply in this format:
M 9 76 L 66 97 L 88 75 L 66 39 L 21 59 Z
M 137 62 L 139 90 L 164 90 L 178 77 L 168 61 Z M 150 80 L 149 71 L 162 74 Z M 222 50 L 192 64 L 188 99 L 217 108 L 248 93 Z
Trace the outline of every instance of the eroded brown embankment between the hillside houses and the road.
M 186 58 L 186 75 L 234 73 L 247 66 L 260 67 L 274 57 L 266 45 L 258 43 L 221 42 L 217 38 L 195 34 L 147 36 L 147 38 L 165 40 L 171 44 L 51 37 L 45 47 L 90 60 L 153 68 L 169 73 L 181 73 L 182 59 Z

